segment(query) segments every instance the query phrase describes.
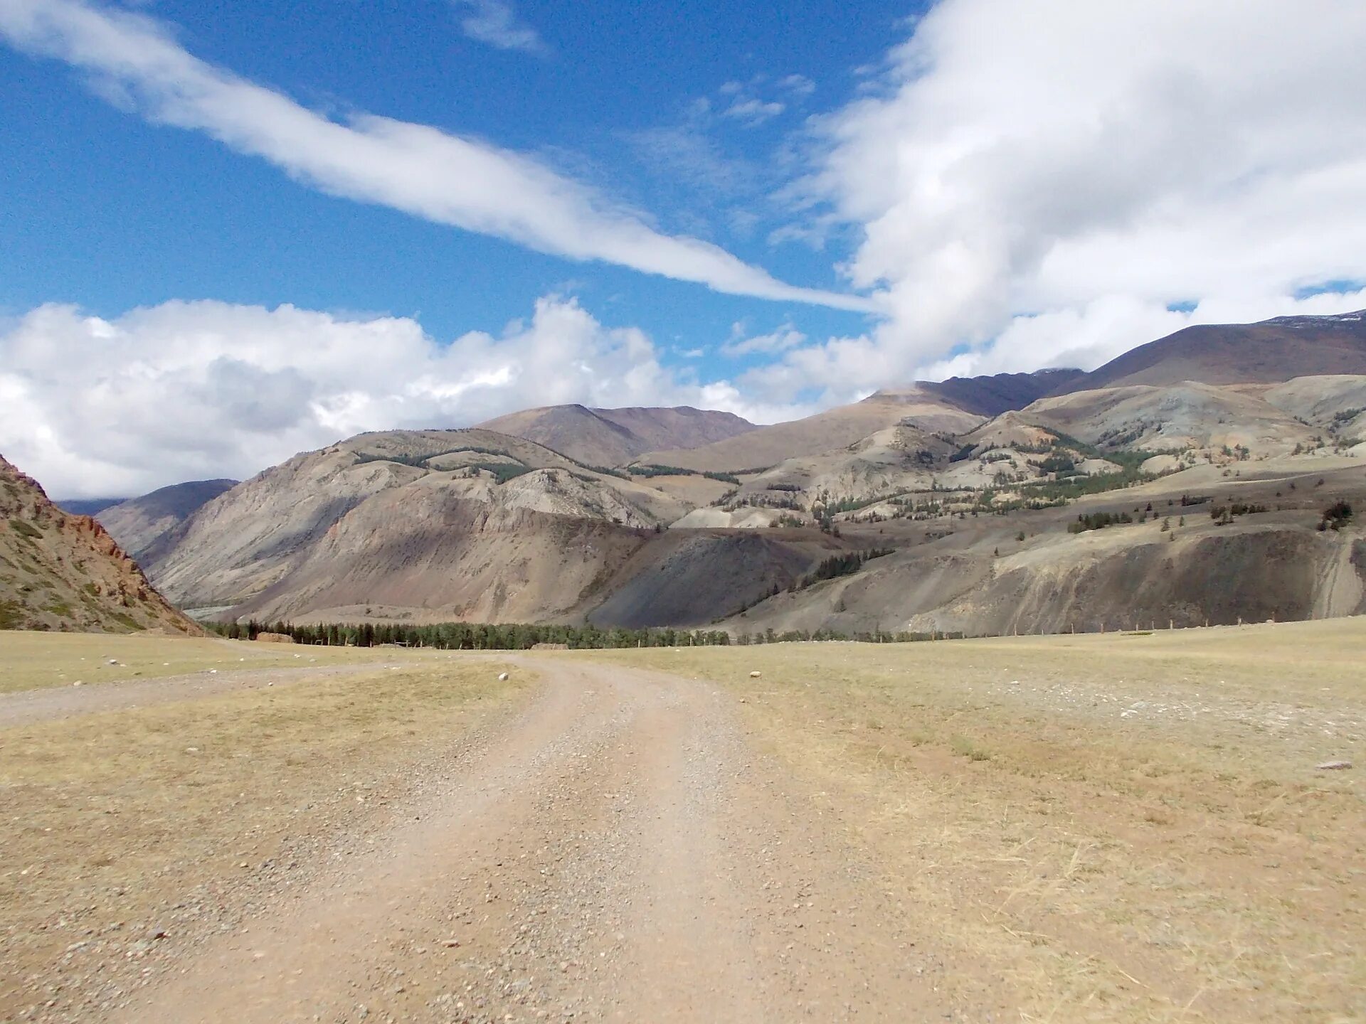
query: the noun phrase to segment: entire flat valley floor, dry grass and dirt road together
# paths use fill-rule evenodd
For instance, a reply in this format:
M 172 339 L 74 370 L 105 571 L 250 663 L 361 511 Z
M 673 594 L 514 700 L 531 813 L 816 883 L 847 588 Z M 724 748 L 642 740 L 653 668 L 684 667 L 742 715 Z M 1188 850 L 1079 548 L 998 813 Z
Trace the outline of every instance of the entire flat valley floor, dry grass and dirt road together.
M 331 657 L 0 698 L 0 1020 L 1366 1019 L 1366 620 Z

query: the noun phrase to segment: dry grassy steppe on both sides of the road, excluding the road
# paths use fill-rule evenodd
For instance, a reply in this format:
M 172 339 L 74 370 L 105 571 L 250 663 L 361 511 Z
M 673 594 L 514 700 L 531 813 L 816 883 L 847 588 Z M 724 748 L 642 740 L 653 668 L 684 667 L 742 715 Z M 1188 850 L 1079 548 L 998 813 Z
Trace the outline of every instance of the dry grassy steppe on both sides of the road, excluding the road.
M 0 634 L 7 689 L 111 657 L 301 676 L 198 695 L 168 680 L 184 699 L 0 726 L 0 1020 L 100 1019 L 163 945 L 254 934 L 281 893 L 384 847 L 406 795 L 459 776 L 458 751 L 508 739 L 535 666 L 566 662 L 721 683 L 794 799 L 839 830 L 840 870 L 906 909 L 906 963 L 930 950 L 914 969 L 951 1005 L 1366 1020 L 1363 618 L 507 661 Z

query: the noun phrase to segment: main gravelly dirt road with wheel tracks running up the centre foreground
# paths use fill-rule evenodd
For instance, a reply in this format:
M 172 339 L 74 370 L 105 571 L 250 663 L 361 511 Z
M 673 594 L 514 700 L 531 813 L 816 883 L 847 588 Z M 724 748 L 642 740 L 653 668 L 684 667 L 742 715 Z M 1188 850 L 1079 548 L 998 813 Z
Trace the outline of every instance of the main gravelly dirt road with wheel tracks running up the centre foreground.
M 956 1019 L 877 866 L 750 747 L 735 698 L 534 668 L 533 703 L 463 770 L 164 961 L 120 1019 Z

